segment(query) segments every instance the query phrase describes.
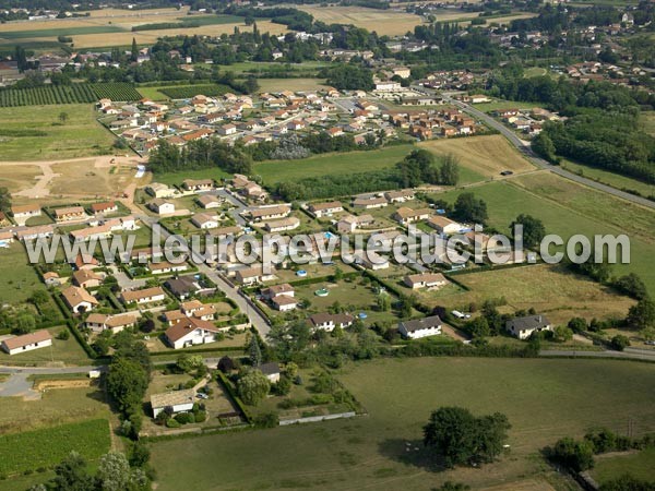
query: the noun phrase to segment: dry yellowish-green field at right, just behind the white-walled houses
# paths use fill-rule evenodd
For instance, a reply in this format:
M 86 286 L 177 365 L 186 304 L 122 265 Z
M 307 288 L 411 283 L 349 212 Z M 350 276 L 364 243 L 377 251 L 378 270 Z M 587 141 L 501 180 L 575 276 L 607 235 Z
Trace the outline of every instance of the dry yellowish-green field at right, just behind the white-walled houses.
M 472 301 L 479 306 L 487 299 L 502 296 L 508 301 L 508 306 L 501 308 L 503 312 L 534 307 L 556 324 L 564 324 L 574 316 L 590 321 L 593 318 L 622 318 L 634 303 L 629 298 L 619 297 L 597 283 L 570 274 L 559 266 L 534 265 L 457 275 L 455 278 L 469 287 L 471 291 L 452 289 L 451 295 L 441 291 L 418 295 L 428 300 L 429 304 L 464 310 L 467 310 Z

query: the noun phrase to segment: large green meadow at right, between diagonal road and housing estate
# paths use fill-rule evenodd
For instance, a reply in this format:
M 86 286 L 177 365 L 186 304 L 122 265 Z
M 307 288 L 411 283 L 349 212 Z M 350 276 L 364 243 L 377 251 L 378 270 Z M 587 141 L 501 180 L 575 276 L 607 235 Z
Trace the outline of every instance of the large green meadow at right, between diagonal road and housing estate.
M 486 201 L 489 225 L 501 231 L 508 231 L 509 224 L 525 213 L 541 219 L 548 233 L 559 233 L 564 240 L 576 233 L 587 237 L 628 233 L 631 263 L 617 264 L 612 271 L 617 275 L 638 273 L 648 289 L 655 291 L 655 270 L 650 259 L 655 253 L 652 235 L 655 215 L 651 211 L 545 172 L 467 191 Z M 454 201 L 461 192 L 450 191 L 439 196 Z

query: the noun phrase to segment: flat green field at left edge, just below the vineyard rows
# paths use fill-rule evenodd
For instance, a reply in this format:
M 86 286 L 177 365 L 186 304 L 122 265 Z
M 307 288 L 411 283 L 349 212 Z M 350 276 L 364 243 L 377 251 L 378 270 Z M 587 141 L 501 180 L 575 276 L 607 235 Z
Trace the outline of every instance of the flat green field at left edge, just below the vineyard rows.
M 68 115 L 66 123 L 59 119 L 62 112 Z M 86 104 L 0 108 L 0 133 L 2 130 L 45 133 L 0 136 L 0 159 L 47 160 L 111 153 L 114 136 L 95 118 L 93 106 Z

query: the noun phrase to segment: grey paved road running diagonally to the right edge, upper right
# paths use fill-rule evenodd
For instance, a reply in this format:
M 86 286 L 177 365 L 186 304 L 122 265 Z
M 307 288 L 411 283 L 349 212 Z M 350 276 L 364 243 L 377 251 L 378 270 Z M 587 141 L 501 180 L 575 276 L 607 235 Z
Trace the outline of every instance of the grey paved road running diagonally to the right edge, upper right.
M 552 164 L 550 164 L 550 163 L 544 160 L 543 158 L 538 157 L 537 155 L 535 155 L 535 153 L 529 147 L 529 142 L 525 142 L 524 140 L 521 140 L 516 135 L 516 133 L 514 133 L 512 130 L 507 128 L 501 122 L 491 118 L 489 115 L 487 115 L 467 104 L 464 104 L 460 100 L 455 100 L 448 95 L 443 95 L 443 100 L 445 100 L 449 104 L 453 104 L 453 105 L 457 106 L 464 112 L 467 112 L 468 115 L 473 116 L 474 118 L 484 121 L 485 124 L 487 124 L 488 127 L 493 128 L 495 130 L 498 130 L 504 137 L 507 137 L 510 141 L 510 143 L 512 145 L 514 145 L 519 149 L 519 152 L 524 154 L 525 157 L 529 161 L 532 161 L 535 166 L 537 166 L 541 169 L 550 170 L 551 172 L 557 173 L 558 176 L 561 176 L 563 178 L 567 178 L 572 181 L 579 182 L 581 184 L 587 185 L 590 188 L 594 188 L 598 191 L 603 191 L 605 193 L 612 194 L 617 197 L 621 197 L 623 200 L 631 201 L 633 203 L 640 204 L 642 206 L 646 206 L 648 208 L 655 208 L 655 202 L 652 202 L 651 200 L 646 200 L 645 197 L 641 197 L 641 196 L 635 196 L 634 194 L 630 194 L 624 191 L 618 190 L 616 188 L 611 188 L 609 185 L 602 184 L 600 182 L 596 182 L 592 179 L 587 179 L 587 178 L 577 176 L 576 173 L 564 170 L 559 166 L 553 166 Z

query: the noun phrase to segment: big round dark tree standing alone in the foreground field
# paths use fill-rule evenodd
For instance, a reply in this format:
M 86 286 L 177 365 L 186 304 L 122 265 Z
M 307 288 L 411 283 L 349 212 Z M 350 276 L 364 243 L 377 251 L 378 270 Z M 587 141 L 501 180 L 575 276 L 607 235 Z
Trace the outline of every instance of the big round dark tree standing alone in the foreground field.
M 424 427 L 424 444 L 449 466 L 487 463 L 502 452 L 509 429 L 507 417 L 499 412 L 476 418 L 461 407 L 442 407 Z

